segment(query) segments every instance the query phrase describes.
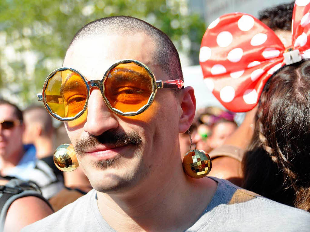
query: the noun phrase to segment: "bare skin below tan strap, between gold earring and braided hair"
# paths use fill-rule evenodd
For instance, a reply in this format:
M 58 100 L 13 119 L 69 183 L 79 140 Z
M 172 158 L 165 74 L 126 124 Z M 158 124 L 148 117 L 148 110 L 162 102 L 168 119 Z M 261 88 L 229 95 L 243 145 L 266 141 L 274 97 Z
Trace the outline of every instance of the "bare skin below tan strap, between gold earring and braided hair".
M 226 179 L 240 186 L 243 179 L 241 162 L 232 157 L 217 157 L 212 160 L 212 169 L 209 176 Z

